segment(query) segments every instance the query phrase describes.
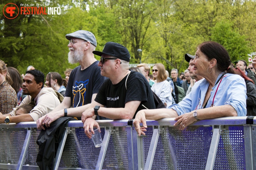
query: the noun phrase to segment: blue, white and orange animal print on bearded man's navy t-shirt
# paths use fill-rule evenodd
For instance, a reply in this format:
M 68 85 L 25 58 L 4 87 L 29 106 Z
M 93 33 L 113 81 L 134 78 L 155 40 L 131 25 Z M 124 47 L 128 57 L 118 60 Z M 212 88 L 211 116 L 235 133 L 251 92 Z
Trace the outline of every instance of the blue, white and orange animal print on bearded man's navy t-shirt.
M 88 84 L 88 82 L 89 80 L 75 82 L 75 86 L 73 86 L 73 107 L 84 105 L 86 85 Z M 77 105 L 74 106 L 74 103 L 77 103 Z

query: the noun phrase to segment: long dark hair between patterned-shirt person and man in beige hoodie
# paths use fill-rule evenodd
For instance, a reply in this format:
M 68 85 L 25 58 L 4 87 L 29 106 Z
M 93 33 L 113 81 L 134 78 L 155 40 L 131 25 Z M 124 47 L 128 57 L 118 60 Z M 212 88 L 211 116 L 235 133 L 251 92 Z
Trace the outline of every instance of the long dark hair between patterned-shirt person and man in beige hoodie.
M 7 70 L 13 81 L 11 86 L 17 94 L 19 92 L 19 89 L 22 87 L 22 83 L 23 83 L 21 79 L 21 75 L 19 71 L 14 67 L 7 67 Z

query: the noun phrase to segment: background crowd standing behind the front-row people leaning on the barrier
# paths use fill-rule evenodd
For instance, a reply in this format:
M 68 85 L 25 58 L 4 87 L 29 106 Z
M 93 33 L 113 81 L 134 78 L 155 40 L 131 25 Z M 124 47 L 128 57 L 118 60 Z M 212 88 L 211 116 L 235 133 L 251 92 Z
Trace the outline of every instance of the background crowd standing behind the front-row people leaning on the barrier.
M 203 79 L 202 76 L 195 74 L 194 70 L 191 69 L 191 67 L 193 67 L 191 62 L 193 61 L 195 56 L 185 54 L 184 58 L 189 63 L 188 68 L 180 74 L 178 74 L 177 69 L 173 68 L 171 70 L 171 77 L 169 77 L 169 72 L 165 70 L 164 65 L 161 63 L 155 64 L 152 70 L 146 63 L 138 64 L 137 67 L 132 67 L 130 68 L 130 70 L 143 74 L 146 80 L 149 82 L 152 91 L 161 99 L 163 104 L 168 108 L 170 105 L 179 102 L 178 100 L 175 100 L 175 95 L 179 95 L 179 92 L 175 94 L 176 86 L 182 87 L 184 89 L 185 95 L 182 96 L 182 100 L 186 95 L 190 93 L 195 82 Z M 253 68 L 252 63 L 249 63 L 247 66 L 247 62 L 244 60 L 235 61 L 234 64 L 232 63 L 230 65 L 230 68 L 234 68 L 236 74 L 242 76 L 246 82 L 247 115 L 256 116 L 256 71 Z M 8 98 L 6 98 L 5 102 L 1 102 L 0 112 L 2 114 L 7 114 L 11 112 L 11 110 L 16 106 L 19 106 L 22 100 L 27 96 L 26 94 L 23 94 L 22 90 L 22 79 L 24 78 L 24 74 L 20 75 L 19 71 L 16 68 L 6 67 L 6 65 L 7 64 L 5 64 L 4 61 L 1 61 L 2 69 L 0 70 L 0 74 L 3 75 L 3 78 L 0 85 L 5 86 L 4 89 L 6 89 L 5 91 L 3 91 L 3 93 L 1 91 L 1 95 L 6 96 L 5 94 L 8 93 Z M 35 69 L 33 66 L 27 67 L 27 71 L 33 69 Z M 44 87 L 51 87 L 54 91 L 59 92 L 64 97 L 71 71 L 72 69 L 70 68 L 67 68 L 64 71 L 64 74 L 66 76 L 65 79 L 63 79 L 61 75 L 57 72 L 49 72 L 46 75 Z M 14 95 L 14 92 L 16 93 L 16 95 Z M 16 102 L 14 100 L 16 100 Z M 30 109 L 29 112 L 31 110 L 32 109 Z

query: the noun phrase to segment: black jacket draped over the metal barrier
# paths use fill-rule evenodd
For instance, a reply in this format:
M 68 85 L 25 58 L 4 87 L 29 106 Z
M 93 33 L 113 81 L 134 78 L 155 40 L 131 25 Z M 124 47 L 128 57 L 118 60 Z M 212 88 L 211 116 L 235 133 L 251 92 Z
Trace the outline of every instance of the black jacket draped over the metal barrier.
M 54 168 L 54 158 L 59 147 L 59 142 L 61 141 L 65 126 L 70 120 L 76 119 L 61 117 L 52 122 L 51 126 L 46 128 L 46 130 L 41 130 L 36 141 L 37 145 L 39 145 L 36 163 L 40 170 L 52 170 Z

